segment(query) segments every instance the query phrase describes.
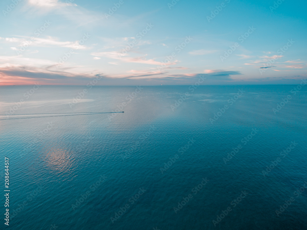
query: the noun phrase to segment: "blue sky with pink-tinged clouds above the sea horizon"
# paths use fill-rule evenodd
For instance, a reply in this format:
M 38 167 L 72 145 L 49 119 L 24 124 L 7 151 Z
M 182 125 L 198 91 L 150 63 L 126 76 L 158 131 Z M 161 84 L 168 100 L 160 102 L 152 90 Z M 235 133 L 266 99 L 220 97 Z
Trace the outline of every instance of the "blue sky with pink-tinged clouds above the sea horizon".
M 0 85 L 298 84 L 306 9 L 305 0 L 2 0 Z

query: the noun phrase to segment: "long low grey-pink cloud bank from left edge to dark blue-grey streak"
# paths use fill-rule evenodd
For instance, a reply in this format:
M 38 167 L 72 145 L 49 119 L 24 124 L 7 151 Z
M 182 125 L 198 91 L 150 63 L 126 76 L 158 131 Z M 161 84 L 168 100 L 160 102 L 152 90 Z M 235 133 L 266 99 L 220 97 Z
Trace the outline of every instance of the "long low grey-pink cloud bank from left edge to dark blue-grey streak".
M 84 84 L 85 81 L 91 80 L 94 76 L 100 76 L 100 74 L 88 74 L 88 73 L 72 73 L 67 72 L 63 69 L 60 70 L 52 70 L 54 65 L 47 66 L 45 68 L 35 68 L 28 66 L 19 66 L 19 67 L 6 67 L 0 68 L 0 76 L 1 78 L 5 78 L 7 82 L 10 80 L 15 80 L 14 84 L 18 84 L 21 82 L 31 82 L 31 81 L 39 81 L 43 84 Z M 66 70 L 69 68 L 66 68 Z M 230 75 L 239 75 L 241 74 L 238 71 L 223 71 L 218 70 L 215 72 L 211 72 L 210 74 L 202 74 L 202 73 L 187 73 L 187 74 L 173 74 L 169 75 L 168 72 L 160 72 L 160 71 L 150 71 L 150 70 L 130 70 L 127 72 L 128 74 L 119 74 L 119 75 L 101 75 L 103 80 L 106 80 L 108 83 L 112 84 L 115 82 L 119 82 L 120 80 L 168 80 L 169 83 L 182 84 L 188 83 L 191 80 L 196 80 L 199 77 L 206 78 L 211 81 L 217 82 L 220 80 L 228 80 Z M 159 76 L 159 77 L 153 77 Z M 175 81 L 179 80 L 179 81 Z M 1 81 L 0 81 L 1 83 Z

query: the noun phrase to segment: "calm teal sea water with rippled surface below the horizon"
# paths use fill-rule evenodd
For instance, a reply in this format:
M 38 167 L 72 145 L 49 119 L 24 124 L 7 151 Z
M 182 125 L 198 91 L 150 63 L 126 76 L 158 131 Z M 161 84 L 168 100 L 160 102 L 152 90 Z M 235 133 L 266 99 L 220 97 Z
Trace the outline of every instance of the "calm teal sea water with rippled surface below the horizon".
M 1 87 L 8 228 L 306 229 L 307 92 L 294 87 Z

